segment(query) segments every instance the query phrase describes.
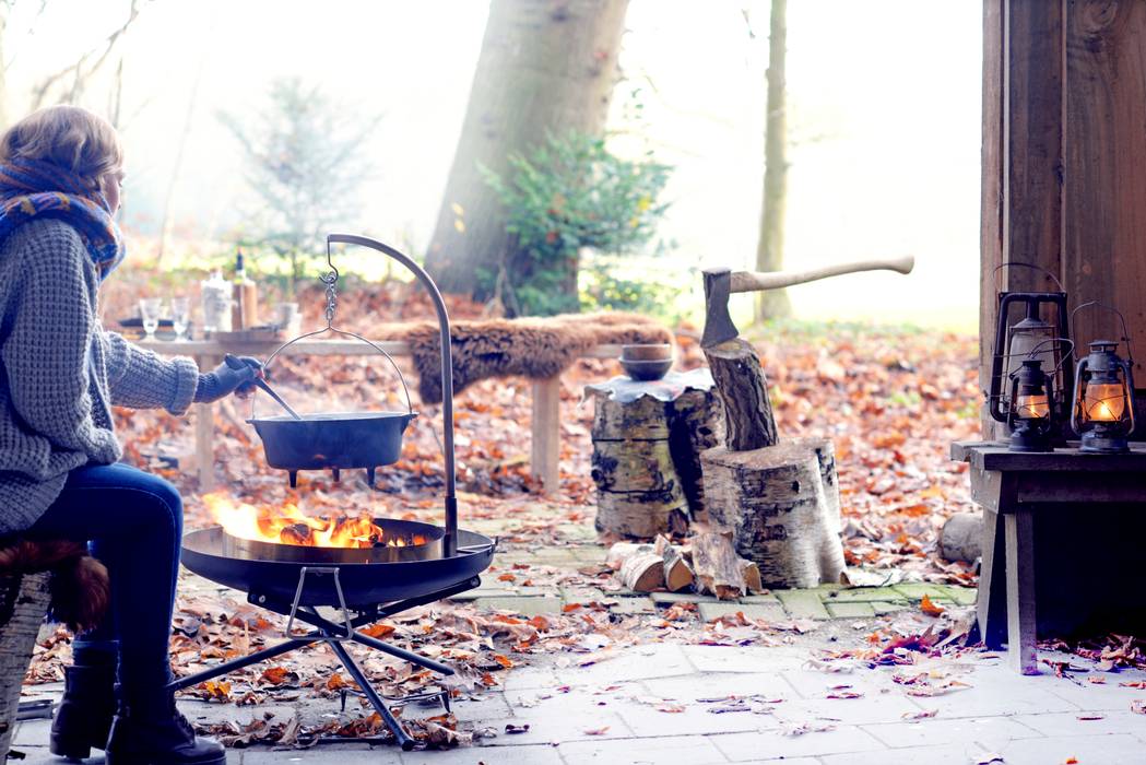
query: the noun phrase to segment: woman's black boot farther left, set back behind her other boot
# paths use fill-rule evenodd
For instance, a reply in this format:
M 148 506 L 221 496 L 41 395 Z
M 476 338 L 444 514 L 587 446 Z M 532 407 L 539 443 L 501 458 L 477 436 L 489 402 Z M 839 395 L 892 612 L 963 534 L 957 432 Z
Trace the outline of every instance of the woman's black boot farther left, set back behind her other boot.
M 52 720 L 52 754 L 84 759 L 108 743 L 116 713 L 116 668 L 97 664 L 64 668 L 64 697 Z

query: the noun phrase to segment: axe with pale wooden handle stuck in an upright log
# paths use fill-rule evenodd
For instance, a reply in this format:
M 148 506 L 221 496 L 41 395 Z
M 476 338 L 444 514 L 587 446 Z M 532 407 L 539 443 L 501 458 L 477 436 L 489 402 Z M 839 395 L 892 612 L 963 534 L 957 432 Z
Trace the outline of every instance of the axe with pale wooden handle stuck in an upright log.
M 700 337 L 701 348 L 712 348 L 732 339 L 739 335 L 732 317 L 728 313 L 728 298 L 732 292 L 755 292 L 763 289 L 782 289 L 793 284 L 803 284 L 853 274 L 859 271 L 897 271 L 901 274 L 911 273 L 916 265 L 912 256 L 890 258 L 887 260 L 856 260 L 838 263 L 822 268 L 808 271 L 731 271 L 729 268 L 705 268 L 705 333 Z

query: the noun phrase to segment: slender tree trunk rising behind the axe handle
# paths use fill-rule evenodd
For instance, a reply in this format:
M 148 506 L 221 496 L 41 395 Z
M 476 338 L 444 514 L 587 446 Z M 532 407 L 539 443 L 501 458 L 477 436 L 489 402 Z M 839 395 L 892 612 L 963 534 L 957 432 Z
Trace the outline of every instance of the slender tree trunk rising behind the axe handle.
M 787 124 L 784 103 L 784 58 L 787 53 L 787 0 L 772 0 L 768 33 L 768 117 L 764 135 L 764 202 L 756 244 L 756 271 L 784 267 L 784 208 L 787 195 Z M 767 289 L 756 294 L 756 319 L 792 313 L 787 292 Z

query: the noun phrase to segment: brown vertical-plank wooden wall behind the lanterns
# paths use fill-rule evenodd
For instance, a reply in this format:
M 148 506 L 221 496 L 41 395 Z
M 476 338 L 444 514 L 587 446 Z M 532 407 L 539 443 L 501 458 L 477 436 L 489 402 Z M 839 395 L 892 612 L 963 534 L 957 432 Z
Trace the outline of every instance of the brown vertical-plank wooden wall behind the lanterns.
M 1051 289 L 1123 314 L 1146 388 L 1146 0 L 984 0 L 980 377 L 999 289 Z M 1082 352 L 1121 337 L 1077 314 Z M 1146 404 L 1146 391 L 1139 396 Z M 1146 431 L 1139 428 L 1138 437 Z

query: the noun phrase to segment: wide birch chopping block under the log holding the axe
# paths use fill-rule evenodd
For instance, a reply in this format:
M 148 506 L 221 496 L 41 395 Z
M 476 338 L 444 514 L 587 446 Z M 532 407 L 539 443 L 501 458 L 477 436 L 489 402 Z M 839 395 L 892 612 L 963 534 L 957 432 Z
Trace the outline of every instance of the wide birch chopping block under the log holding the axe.
M 709 521 L 756 563 L 762 586 L 839 581 L 845 563 L 830 440 L 800 438 L 746 452 L 717 446 L 701 461 Z

